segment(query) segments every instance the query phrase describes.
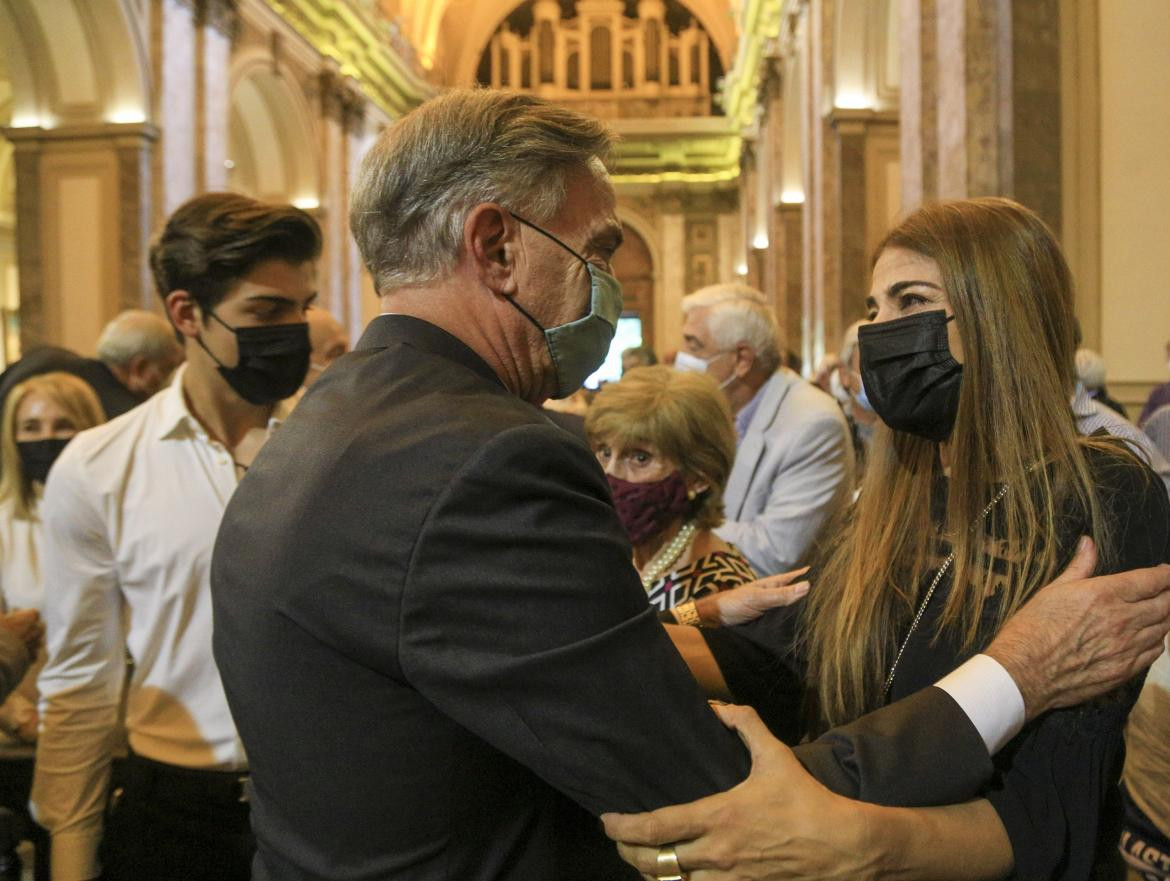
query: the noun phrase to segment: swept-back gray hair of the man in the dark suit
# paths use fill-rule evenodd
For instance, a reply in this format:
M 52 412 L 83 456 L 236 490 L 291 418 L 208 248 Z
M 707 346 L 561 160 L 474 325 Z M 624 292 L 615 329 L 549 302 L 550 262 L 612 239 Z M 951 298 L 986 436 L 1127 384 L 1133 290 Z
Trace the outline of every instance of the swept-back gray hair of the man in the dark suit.
M 353 188 L 350 229 L 376 289 L 449 273 L 476 205 L 550 220 L 566 172 L 604 167 L 613 140 L 604 123 L 530 95 L 457 89 L 415 108 L 383 132 Z

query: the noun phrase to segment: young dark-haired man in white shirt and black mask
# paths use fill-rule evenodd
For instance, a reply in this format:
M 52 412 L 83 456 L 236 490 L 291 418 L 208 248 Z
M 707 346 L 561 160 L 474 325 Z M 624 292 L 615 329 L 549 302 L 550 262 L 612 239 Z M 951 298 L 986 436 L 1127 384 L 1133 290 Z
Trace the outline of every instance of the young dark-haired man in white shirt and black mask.
M 77 435 L 49 476 L 32 805 L 53 834 L 54 881 L 250 875 L 247 757 L 212 659 L 208 567 L 277 402 L 304 381 L 321 243 L 289 205 L 183 205 L 151 267 L 186 365 Z M 108 807 L 123 701 L 130 755 Z

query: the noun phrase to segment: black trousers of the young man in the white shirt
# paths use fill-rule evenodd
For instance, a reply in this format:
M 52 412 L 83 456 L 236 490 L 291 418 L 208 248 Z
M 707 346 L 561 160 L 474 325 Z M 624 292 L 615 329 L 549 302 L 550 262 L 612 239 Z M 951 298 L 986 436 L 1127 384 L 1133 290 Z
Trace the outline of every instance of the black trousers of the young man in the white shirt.
M 249 881 L 256 839 L 241 775 L 131 755 L 102 839 L 103 881 Z

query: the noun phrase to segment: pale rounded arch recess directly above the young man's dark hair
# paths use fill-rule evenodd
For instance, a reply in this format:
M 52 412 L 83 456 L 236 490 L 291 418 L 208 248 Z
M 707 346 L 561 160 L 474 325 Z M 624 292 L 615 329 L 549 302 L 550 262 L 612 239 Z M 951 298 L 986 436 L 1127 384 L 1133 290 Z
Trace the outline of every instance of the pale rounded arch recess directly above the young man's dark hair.
M 317 207 L 317 131 L 301 89 L 259 50 L 236 58 L 230 83 L 228 186 Z

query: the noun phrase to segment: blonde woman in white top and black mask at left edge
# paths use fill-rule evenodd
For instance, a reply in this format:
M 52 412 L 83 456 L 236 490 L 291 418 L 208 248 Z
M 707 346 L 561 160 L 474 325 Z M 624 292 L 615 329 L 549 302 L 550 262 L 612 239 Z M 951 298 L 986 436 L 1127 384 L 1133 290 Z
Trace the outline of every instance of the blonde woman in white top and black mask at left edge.
M 94 390 L 70 373 L 41 373 L 9 392 L 0 425 L 0 603 L 4 612 L 40 610 L 44 480 L 66 443 L 105 421 Z M 36 673 L 43 656 L 0 706 L 0 804 L 27 817 L 36 741 Z M 48 837 L 29 824 L 37 877 L 48 877 Z M 43 875 L 42 875 L 43 870 Z

